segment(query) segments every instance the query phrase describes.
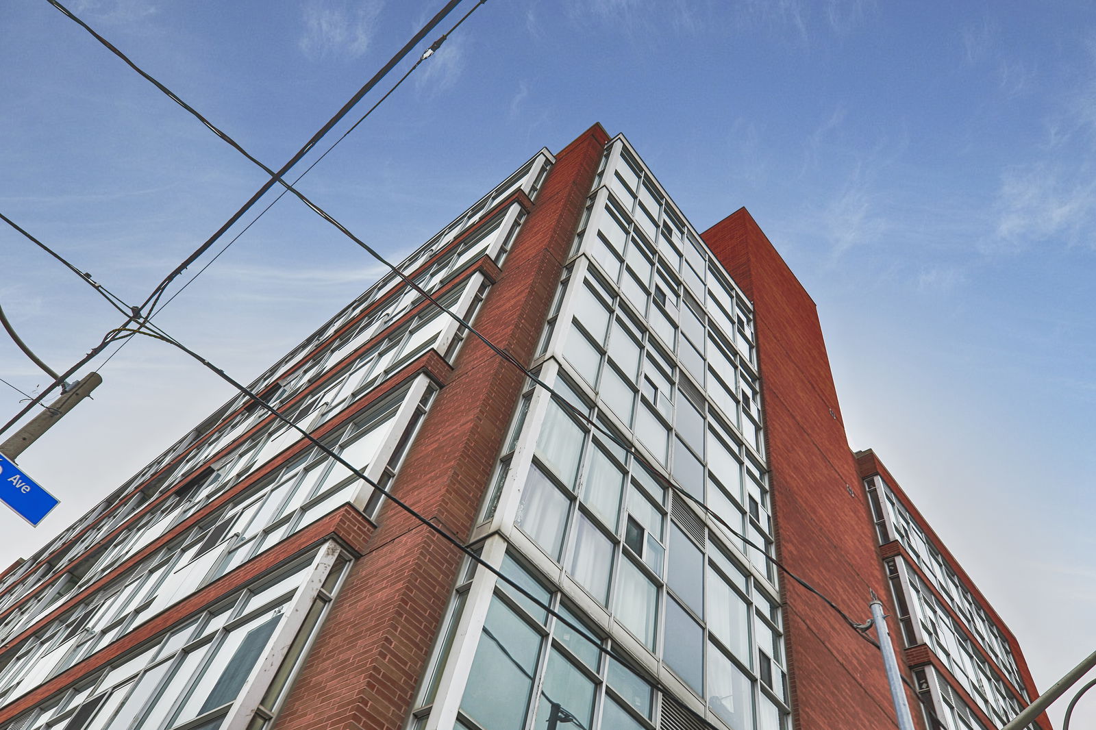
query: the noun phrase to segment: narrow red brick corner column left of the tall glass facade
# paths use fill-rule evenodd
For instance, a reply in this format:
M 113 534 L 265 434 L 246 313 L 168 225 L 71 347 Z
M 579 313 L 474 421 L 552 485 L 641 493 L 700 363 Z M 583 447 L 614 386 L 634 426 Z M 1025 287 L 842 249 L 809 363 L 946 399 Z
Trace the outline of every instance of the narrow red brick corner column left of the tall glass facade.
M 477 327 L 529 363 L 608 135 L 561 150 Z M 393 483 L 421 514 L 465 538 L 524 376 L 468 338 Z M 395 730 L 411 710 L 461 554 L 386 505 L 277 720 L 277 730 Z

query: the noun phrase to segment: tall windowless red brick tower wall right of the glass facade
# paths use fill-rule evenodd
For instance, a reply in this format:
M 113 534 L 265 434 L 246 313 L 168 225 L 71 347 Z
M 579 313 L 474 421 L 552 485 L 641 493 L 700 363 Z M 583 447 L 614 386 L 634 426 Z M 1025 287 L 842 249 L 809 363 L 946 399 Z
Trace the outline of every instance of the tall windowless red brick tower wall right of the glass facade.
M 870 590 L 893 615 L 813 300 L 745 208 L 704 240 L 755 307 L 778 558 L 858 621 Z M 898 727 L 879 650 L 794 581 L 780 593 L 795 727 Z

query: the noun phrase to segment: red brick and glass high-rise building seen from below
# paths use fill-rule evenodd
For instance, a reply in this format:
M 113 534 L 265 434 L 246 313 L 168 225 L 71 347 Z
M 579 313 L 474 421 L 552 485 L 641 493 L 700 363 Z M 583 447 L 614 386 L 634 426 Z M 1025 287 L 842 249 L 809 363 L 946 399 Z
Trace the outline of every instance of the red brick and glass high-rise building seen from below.
M 0 730 L 894 728 L 872 591 L 920 728 L 1035 698 L 744 209 L 594 126 L 399 269 L 251 386 L 319 444 L 241 395 L 0 577 Z

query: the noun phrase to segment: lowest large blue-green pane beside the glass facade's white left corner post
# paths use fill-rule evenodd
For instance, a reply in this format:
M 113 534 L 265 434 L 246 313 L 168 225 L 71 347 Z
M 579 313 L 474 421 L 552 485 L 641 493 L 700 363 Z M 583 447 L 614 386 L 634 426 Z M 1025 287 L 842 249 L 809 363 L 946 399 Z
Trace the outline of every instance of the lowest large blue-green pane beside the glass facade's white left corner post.
M 460 709 L 483 730 L 525 727 L 540 636 L 499 598 L 491 601 Z

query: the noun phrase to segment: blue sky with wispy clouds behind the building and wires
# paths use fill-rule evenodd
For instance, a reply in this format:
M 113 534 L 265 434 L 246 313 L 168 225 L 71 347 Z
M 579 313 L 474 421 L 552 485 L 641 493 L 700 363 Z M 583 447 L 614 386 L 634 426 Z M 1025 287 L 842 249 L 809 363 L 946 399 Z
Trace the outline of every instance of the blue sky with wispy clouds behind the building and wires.
M 278 167 L 439 5 L 71 7 Z M 491 0 L 300 187 L 399 258 L 601 122 L 697 228 L 746 206 L 819 305 L 852 445 L 888 464 L 1047 687 L 1096 649 L 1094 21 L 1085 2 Z M 264 180 L 45 0 L 0 10 L 0 210 L 126 299 Z M 117 324 L 13 232 L 0 247 L 0 303 L 54 367 Z M 158 321 L 247 379 L 378 271 L 287 197 Z M 64 506 L 36 532 L 11 517 L 0 562 L 229 395 L 151 340 L 101 372 L 21 459 Z M 8 342 L 0 374 L 45 381 Z M 7 412 L 20 398 L 0 385 Z

